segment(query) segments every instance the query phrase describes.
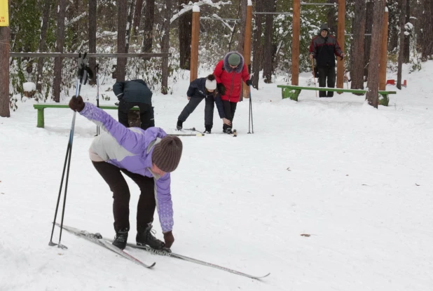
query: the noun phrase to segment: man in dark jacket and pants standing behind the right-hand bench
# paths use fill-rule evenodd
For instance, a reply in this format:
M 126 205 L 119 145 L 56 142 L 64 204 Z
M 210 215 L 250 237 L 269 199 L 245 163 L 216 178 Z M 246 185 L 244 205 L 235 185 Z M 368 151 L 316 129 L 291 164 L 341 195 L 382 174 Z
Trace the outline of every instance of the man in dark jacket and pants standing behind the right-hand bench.
M 310 44 L 310 60 L 314 57 L 317 60 L 319 72 L 319 87 L 334 88 L 336 84 L 336 60 L 334 55 L 343 60 L 344 53 L 335 36 L 329 34 L 328 25 L 320 27 L 320 34 L 312 39 Z M 328 79 L 328 80 L 327 80 Z M 328 95 L 327 95 L 328 94 Z M 319 97 L 333 97 L 334 92 L 319 91 Z

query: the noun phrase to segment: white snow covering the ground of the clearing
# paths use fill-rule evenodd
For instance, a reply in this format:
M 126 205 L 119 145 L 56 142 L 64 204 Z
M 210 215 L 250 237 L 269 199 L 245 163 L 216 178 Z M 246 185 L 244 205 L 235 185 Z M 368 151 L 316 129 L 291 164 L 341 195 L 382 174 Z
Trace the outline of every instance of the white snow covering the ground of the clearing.
M 252 90 L 254 134 L 247 134 L 245 100 L 234 121 L 238 137 L 219 134 L 217 112 L 212 135 L 181 137 L 172 250 L 245 273 L 270 272 L 263 280 L 127 248 L 156 262 L 144 269 L 66 231 L 68 250 L 48 246 L 74 114 L 46 109 L 46 127 L 36 128 L 34 100 L 24 97 L 11 118 L 0 119 L 0 290 L 431 290 L 433 62 L 421 72 L 408 68 L 407 88 L 387 86 L 398 91 L 389 107 L 373 109 L 348 93 L 302 91 L 299 102 L 282 100 L 276 86 L 286 82 L 278 79 Z M 301 86 L 310 75 L 301 74 Z M 156 125 L 168 133 L 187 102 L 185 78 L 174 95 L 153 95 Z M 101 104 L 114 104 L 107 94 L 111 100 Z M 95 103 L 96 87 L 83 86 L 81 95 Z M 204 129 L 204 107 L 185 128 Z M 64 224 L 113 238 L 112 195 L 88 158 L 95 131 L 76 115 Z M 135 230 L 139 193 L 127 180 Z M 62 201 L 57 222 L 61 208 Z M 157 216 L 154 229 L 162 238 Z

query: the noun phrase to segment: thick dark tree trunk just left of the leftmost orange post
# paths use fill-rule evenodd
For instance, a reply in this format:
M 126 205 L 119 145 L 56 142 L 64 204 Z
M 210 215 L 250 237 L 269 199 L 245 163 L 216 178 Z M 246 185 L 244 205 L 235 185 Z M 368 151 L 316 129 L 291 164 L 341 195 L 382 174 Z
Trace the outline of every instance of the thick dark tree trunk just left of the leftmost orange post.
M 181 11 L 184 6 L 182 4 L 188 4 L 189 0 L 178 1 L 178 11 Z M 179 53 L 180 62 L 179 67 L 181 69 L 190 69 L 191 64 L 191 29 L 192 29 L 192 11 L 188 11 L 179 17 Z

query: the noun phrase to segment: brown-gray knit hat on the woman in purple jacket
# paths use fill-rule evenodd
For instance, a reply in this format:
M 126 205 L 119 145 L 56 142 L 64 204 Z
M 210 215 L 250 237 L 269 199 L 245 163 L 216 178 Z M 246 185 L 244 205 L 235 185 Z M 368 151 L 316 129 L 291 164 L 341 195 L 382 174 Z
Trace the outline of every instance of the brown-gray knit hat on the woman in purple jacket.
M 173 172 L 182 155 L 182 142 L 179 137 L 167 135 L 153 148 L 152 161 L 164 172 Z

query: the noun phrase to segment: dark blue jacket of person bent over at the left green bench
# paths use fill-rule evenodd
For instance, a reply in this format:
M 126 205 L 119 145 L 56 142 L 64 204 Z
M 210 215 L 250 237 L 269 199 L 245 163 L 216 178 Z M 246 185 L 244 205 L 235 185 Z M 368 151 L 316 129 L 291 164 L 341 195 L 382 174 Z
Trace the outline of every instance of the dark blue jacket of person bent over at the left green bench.
M 152 91 L 142 79 L 117 81 L 113 92 L 118 100 L 152 104 Z

